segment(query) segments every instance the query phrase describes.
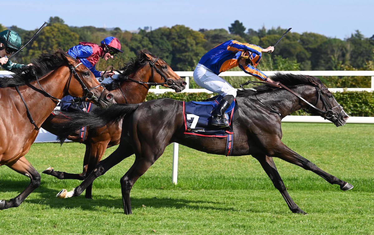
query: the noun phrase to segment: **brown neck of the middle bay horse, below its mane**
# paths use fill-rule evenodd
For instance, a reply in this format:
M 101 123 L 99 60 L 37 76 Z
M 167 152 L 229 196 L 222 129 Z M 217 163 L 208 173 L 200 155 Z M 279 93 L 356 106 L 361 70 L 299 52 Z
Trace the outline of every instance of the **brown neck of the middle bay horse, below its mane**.
M 138 69 L 136 72 L 130 74 L 129 77 L 137 81 L 148 82 L 151 77 L 151 73 L 148 70 L 149 69 Z M 127 103 L 140 103 L 145 101 L 149 88 L 150 85 L 148 84 L 139 84 L 128 80 L 123 81 L 120 84 L 120 89 L 122 90 L 123 94 L 120 91 L 116 93 L 121 103 L 125 103 L 125 98 L 123 98 L 123 95 L 125 95 Z

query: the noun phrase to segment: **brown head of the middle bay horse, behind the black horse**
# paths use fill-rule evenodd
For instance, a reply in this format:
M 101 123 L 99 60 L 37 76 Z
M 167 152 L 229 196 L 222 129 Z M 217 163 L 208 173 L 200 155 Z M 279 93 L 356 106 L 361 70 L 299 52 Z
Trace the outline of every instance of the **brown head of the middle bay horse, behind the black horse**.
M 142 53 L 149 62 L 151 69 L 150 82 L 162 83 L 162 86 L 170 87 L 175 90 L 175 92 L 181 92 L 186 88 L 186 81 L 178 76 L 165 61 L 154 57 L 147 50 L 142 50 L 140 53 Z

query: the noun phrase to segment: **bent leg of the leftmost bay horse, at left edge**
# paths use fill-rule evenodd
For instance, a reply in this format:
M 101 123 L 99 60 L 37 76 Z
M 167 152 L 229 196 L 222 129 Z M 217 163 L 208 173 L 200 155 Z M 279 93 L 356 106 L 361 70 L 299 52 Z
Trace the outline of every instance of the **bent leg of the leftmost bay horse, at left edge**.
M 25 198 L 31 194 L 40 185 L 40 174 L 35 170 L 33 166 L 26 160 L 25 157 L 19 158 L 16 163 L 7 165 L 12 170 L 17 171 L 31 179 L 30 184 L 27 188 L 21 192 L 17 197 L 10 199 L 9 201 L 0 200 L 0 210 L 7 209 L 10 207 L 18 207 Z

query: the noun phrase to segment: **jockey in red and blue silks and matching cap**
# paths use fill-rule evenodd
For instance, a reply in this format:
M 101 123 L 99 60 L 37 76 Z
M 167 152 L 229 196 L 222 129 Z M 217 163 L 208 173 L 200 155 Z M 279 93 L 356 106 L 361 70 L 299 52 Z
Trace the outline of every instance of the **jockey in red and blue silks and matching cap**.
M 67 53 L 90 69 L 95 77 L 101 77 L 101 75 L 104 77 L 111 77 L 114 75 L 113 72 L 102 74 L 102 72 L 97 71 L 95 68 L 96 63 L 100 58 L 107 61 L 109 58 L 113 59 L 113 56 L 117 53 L 123 52 L 117 38 L 106 37 L 101 41 L 100 46 L 95 43 L 80 42 L 79 45 L 71 47 Z M 62 101 L 71 101 L 72 99 L 74 98 L 68 95 L 62 98 Z M 68 111 L 68 108 L 82 110 L 77 104 L 71 105 L 71 103 L 61 103 L 62 111 Z

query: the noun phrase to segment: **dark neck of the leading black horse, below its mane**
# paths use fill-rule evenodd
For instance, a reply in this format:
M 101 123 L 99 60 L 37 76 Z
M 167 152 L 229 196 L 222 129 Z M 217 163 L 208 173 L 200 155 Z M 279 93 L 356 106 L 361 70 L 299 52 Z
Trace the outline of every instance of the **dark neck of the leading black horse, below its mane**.
M 310 97 L 311 93 L 315 91 L 306 89 L 305 86 L 295 86 L 291 90 L 299 94 L 308 102 L 314 102 L 310 100 L 310 98 L 308 97 Z M 297 96 L 295 96 L 294 94 L 285 89 L 277 89 L 272 91 L 272 94 L 267 92 L 261 95 L 257 95 L 257 97 L 261 102 L 272 107 L 274 111 L 279 111 L 282 118 L 291 114 L 294 111 L 307 108 L 307 106 L 301 105 L 300 99 Z M 303 105 L 305 104 L 305 102 L 302 103 Z

